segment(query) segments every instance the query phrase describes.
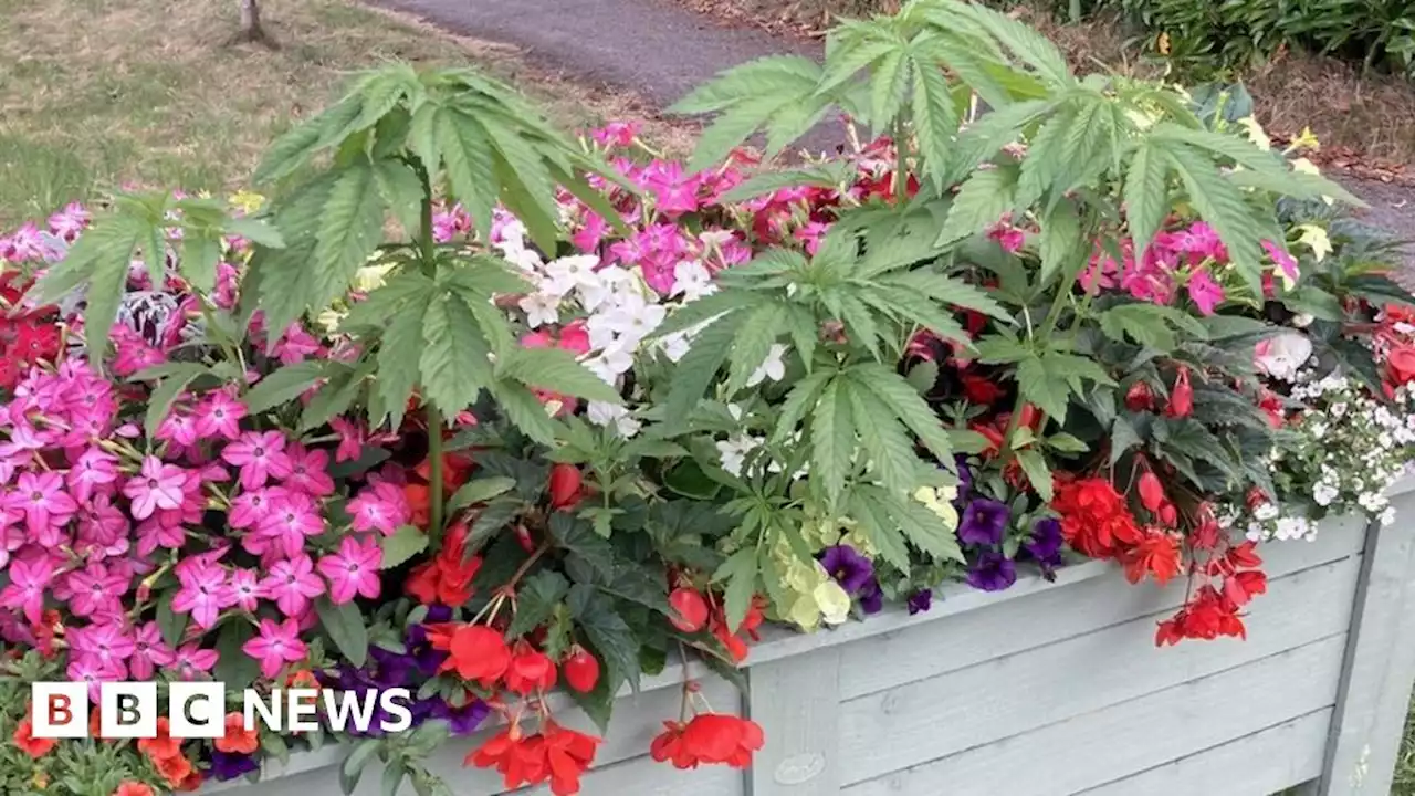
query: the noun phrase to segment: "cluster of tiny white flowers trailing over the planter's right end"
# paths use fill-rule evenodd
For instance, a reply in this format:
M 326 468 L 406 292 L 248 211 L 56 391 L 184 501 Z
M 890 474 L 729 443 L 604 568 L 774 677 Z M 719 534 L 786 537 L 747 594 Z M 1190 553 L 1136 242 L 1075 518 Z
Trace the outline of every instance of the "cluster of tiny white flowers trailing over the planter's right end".
M 1385 491 L 1415 457 L 1415 401 L 1401 387 L 1392 404 L 1378 401 L 1339 374 L 1299 374 L 1292 398 L 1309 406 L 1293 422 L 1298 439 L 1275 448 L 1272 480 L 1283 507 L 1274 503 L 1227 507 L 1218 521 L 1251 540 L 1312 540 L 1322 517 L 1363 513 L 1382 524 L 1395 520 Z

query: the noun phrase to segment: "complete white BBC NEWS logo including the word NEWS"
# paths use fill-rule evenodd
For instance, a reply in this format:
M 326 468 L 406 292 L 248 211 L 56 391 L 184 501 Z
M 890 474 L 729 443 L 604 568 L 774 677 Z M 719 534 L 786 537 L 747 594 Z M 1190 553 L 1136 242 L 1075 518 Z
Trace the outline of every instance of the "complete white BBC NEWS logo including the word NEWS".
M 88 683 L 34 683 L 30 704 L 35 738 L 89 737 Z M 310 732 L 328 727 L 335 732 L 368 732 L 376 717 L 376 729 L 402 732 L 413 725 L 410 705 L 408 688 L 277 688 L 269 694 L 248 688 L 241 715 L 248 731 L 263 727 L 272 732 Z M 156 738 L 158 715 L 167 717 L 173 738 L 224 738 L 226 714 L 226 687 L 221 683 L 173 683 L 166 705 L 157 697 L 157 683 L 99 684 L 102 738 Z

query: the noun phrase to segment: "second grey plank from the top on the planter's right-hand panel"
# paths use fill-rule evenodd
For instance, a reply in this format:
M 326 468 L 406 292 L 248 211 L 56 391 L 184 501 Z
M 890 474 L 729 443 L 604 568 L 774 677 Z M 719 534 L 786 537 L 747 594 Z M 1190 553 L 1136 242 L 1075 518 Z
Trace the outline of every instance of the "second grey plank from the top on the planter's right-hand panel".
M 842 783 L 873 779 L 1341 633 L 1350 623 L 1358 567 L 1360 558 L 1347 558 L 1274 581 L 1269 593 L 1252 603 L 1248 640 L 1157 650 L 1155 619 L 1142 618 L 843 703 Z M 998 626 L 992 632 L 1012 630 Z M 920 659 L 928 654 L 917 652 Z

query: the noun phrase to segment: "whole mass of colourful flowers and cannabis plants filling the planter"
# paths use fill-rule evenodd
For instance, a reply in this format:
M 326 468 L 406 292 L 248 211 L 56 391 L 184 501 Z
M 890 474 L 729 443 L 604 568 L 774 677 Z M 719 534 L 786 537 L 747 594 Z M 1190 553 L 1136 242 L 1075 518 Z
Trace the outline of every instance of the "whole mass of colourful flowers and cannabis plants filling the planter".
M 1063 91 L 993 44 L 1007 86 Z M 757 93 L 791 64 L 681 109 L 782 108 Z M 396 755 L 424 789 L 475 737 L 467 765 L 567 796 L 601 739 L 552 694 L 603 721 L 672 660 L 648 754 L 740 769 L 768 739 L 691 664 L 749 661 L 767 623 L 923 622 L 944 584 L 1092 558 L 1187 585 L 1156 644 L 1241 637 L 1259 542 L 1390 521 L 1415 316 L 1340 187 L 1169 86 L 1108 78 L 1067 102 L 1115 127 L 1061 135 L 1077 113 L 920 113 L 978 88 L 938 78 L 782 170 L 737 130 L 682 163 L 631 122 L 573 140 L 508 86 L 389 67 L 337 106 L 357 123 L 273 147 L 255 178 L 299 177 L 273 203 L 120 194 L 0 239 L 0 762 L 157 796 L 333 739 L 347 779 Z M 792 123 L 763 118 L 768 150 Z M 45 678 L 416 697 L 396 737 L 382 708 L 313 734 L 233 714 L 59 754 L 13 686 Z

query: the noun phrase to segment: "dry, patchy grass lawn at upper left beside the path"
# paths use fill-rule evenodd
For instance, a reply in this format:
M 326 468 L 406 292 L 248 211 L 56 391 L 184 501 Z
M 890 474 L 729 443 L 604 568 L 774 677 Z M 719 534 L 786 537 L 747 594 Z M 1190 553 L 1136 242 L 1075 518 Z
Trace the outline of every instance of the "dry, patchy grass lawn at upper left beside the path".
M 348 0 L 262 0 L 277 51 L 231 44 L 236 0 L 0 0 L 0 231 L 115 186 L 231 190 L 293 120 L 385 61 L 474 64 L 563 125 L 644 118 L 511 48 Z M 682 132 L 649 125 L 674 149 Z

